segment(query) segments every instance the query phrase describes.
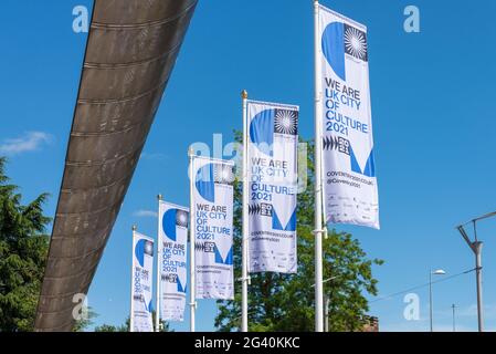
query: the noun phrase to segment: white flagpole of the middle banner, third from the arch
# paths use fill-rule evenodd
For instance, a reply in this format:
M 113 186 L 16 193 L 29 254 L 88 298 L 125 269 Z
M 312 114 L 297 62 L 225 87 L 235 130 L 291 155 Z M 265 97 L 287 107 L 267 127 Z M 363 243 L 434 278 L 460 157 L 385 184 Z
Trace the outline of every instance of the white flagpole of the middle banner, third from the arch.
M 194 150 L 192 147 L 189 148 L 188 152 L 189 156 L 189 177 L 190 177 L 190 187 L 189 187 L 189 194 L 190 194 L 190 214 L 189 214 L 189 252 L 190 252 L 190 266 L 189 266 L 189 278 L 190 278 L 190 332 L 194 332 L 194 311 L 197 308 L 197 302 L 194 299 L 194 294 L 197 292 L 196 283 L 194 283 L 194 216 L 193 216 L 193 158 L 194 158 Z

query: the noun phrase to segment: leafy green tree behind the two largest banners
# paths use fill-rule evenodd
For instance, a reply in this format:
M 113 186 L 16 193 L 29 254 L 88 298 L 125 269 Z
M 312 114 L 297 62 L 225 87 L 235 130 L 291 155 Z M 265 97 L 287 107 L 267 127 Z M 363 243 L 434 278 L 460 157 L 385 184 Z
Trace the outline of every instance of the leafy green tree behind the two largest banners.
M 241 142 L 241 135 L 235 133 Z M 298 195 L 297 235 L 298 272 L 296 274 L 251 274 L 249 288 L 250 331 L 314 331 L 314 144 L 307 144 L 307 188 Z M 242 184 L 234 186 L 234 279 L 241 278 Z M 329 230 L 323 242 L 324 292 L 329 295 L 329 330 L 359 331 L 369 310 L 363 292 L 376 295 L 377 280 L 372 266 L 381 260 L 367 258 L 358 240 L 350 233 Z M 241 285 L 233 301 L 219 301 L 215 326 L 219 331 L 236 331 L 241 326 Z

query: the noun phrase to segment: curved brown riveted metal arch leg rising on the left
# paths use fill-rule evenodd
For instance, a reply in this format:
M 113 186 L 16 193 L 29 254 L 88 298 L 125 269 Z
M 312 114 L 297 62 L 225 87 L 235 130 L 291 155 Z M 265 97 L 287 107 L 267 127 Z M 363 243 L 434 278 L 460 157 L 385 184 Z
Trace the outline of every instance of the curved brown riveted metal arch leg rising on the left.
M 36 331 L 71 331 L 198 0 L 95 0 Z

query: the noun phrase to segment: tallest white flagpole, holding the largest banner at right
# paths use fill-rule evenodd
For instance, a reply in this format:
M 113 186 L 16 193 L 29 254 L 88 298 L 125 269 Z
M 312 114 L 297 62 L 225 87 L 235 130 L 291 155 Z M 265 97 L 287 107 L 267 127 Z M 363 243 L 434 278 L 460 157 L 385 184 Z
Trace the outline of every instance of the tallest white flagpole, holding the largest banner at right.
M 324 331 L 323 296 L 323 196 L 321 196 L 321 125 L 323 88 L 320 62 L 319 4 L 314 0 L 314 45 L 315 45 L 315 331 Z

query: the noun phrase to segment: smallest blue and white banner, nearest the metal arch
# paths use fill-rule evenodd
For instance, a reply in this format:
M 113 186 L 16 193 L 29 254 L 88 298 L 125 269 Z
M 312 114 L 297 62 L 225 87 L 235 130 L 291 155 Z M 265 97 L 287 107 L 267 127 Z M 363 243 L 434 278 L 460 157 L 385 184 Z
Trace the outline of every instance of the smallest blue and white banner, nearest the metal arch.
M 154 275 L 154 240 L 133 233 L 133 332 L 154 332 L 151 291 Z

